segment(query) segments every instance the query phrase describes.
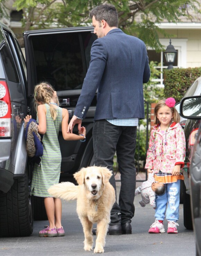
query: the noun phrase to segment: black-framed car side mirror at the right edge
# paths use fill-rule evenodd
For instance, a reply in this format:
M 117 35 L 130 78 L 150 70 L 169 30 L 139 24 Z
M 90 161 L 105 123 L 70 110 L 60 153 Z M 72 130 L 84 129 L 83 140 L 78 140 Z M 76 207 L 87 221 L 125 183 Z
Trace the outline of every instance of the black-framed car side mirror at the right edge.
M 180 115 L 187 119 L 201 119 L 201 96 L 183 98 L 180 104 Z

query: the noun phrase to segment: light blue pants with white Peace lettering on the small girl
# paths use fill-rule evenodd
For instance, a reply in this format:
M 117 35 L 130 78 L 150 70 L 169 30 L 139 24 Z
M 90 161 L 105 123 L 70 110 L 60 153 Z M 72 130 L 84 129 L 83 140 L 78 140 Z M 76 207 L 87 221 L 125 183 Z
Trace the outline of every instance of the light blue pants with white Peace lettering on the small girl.
M 164 221 L 178 221 L 180 206 L 180 180 L 174 183 L 167 183 L 166 193 L 163 196 L 156 195 L 155 218 Z M 167 210 L 166 210 L 167 207 Z

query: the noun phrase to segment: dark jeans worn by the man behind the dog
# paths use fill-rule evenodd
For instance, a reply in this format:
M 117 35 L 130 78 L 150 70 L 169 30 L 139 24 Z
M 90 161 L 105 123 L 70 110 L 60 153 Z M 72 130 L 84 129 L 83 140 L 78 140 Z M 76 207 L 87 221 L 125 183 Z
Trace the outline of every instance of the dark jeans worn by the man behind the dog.
M 131 222 L 134 216 L 134 194 L 136 190 L 136 168 L 134 154 L 136 149 L 137 126 L 117 126 L 105 119 L 94 122 L 93 142 L 96 166 L 104 166 L 113 171 L 113 158 L 116 152 L 121 174 L 119 205 L 111 210 L 110 225 Z M 114 173 L 110 178 L 116 193 Z

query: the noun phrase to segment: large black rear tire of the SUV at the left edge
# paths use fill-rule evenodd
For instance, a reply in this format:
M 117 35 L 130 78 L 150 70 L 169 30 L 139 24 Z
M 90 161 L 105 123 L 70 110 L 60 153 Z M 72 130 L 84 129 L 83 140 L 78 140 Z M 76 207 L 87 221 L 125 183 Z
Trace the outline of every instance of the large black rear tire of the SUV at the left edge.
M 33 197 L 30 172 L 16 179 L 7 193 L 0 194 L 0 237 L 26 237 L 33 232 Z

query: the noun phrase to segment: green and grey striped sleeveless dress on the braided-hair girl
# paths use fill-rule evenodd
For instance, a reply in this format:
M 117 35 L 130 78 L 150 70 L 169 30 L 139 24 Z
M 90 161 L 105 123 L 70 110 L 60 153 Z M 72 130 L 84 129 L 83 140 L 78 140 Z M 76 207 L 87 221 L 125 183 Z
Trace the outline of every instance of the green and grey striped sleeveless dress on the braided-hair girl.
M 53 121 L 50 115 L 50 106 L 45 104 L 45 107 L 47 109 L 47 130 L 43 137 L 43 156 L 41 157 L 41 165 L 34 165 L 31 189 L 32 195 L 38 197 L 52 197 L 47 192 L 47 189 L 53 184 L 59 183 L 61 170 L 61 151 L 58 134 L 62 122 L 62 108 L 57 108 L 58 114 Z

